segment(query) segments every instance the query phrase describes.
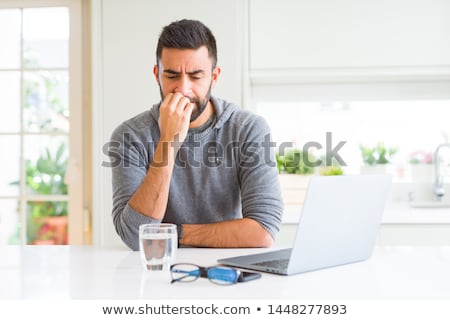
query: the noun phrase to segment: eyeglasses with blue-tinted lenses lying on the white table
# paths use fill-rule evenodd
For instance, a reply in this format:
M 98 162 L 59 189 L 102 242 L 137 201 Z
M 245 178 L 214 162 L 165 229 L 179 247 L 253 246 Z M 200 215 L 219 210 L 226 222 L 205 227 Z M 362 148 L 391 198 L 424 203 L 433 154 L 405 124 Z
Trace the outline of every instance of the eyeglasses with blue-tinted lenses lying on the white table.
M 191 282 L 198 278 L 208 278 L 215 284 L 230 285 L 240 282 L 241 272 L 221 266 L 205 268 L 191 263 L 177 263 L 170 266 L 170 274 L 172 276 L 170 283 Z

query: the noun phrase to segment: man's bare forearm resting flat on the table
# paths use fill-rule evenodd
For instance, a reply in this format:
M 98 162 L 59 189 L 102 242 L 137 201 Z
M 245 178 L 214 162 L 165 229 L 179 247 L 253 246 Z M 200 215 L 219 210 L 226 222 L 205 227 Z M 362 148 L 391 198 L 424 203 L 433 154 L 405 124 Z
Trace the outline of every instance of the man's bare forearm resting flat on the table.
M 256 220 L 243 218 L 210 224 L 183 224 L 180 244 L 212 248 L 270 247 L 272 236 Z

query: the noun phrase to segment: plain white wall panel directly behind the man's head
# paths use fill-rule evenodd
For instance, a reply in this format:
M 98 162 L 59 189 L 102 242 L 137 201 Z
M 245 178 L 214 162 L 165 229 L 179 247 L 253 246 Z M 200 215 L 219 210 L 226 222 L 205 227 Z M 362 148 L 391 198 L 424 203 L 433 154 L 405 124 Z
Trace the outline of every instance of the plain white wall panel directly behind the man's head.
M 94 0 L 94 243 L 120 244 L 111 219 L 111 172 L 102 154 L 114 130 L 124 120 L 160 99 L 153 77 L 159 33 L 182 18 L 204 22 L 218 47 L 220 80 L 213 95 L 242 100 L 243 7 L 239 0 Z

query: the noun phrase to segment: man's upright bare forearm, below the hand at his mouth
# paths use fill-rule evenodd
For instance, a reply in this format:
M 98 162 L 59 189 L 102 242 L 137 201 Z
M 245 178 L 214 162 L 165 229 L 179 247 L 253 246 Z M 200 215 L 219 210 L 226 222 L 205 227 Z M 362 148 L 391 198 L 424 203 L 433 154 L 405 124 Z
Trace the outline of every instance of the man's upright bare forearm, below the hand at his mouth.
M 152 219 L 164 217 L 175 156 L 171 142 L 158 143 L 147 175 L 129 201 L 131 208 Z

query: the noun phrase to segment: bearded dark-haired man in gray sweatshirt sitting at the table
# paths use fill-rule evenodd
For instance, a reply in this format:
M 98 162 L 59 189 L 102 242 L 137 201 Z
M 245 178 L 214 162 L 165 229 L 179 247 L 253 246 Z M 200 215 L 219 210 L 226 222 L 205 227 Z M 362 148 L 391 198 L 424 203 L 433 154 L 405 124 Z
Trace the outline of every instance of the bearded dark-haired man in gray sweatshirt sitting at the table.
M 153 72 L 161 102 L 112 135 L 113 221 L 138 250 L 143 223 L 170 222 L 179 243 L 268 247 L 283 204 L 270 130 L 259 116 L 211 96 L 216 41 L 199 21 L 166 26 Z

